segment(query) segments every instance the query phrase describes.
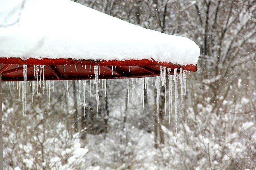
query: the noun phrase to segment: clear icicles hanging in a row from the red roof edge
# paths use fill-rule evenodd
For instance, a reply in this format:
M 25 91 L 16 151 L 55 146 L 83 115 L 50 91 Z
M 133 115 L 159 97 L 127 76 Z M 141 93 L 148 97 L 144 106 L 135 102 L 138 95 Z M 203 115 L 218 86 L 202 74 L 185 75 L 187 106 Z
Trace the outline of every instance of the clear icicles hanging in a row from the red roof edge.
M 116 67 L 115 67 L 116 69 Z M 95 92 L 96 92 L 96 102 L 97 102 L 97 118 L 99 117 L 99 74 L 100 74 L 100 67 L 94 66 L 94 75 L 95 80 L 90 80 L 90 97 L 92 97 L 91 94 L 91 88 L 93 83 L 93 89 L 95 85 Z M 167 98 L 167 84 L 166 84 L 166 77 L 168 78 L 168 116 L 169 116 L 169 123 L 170 123 L 170 115 L 173 114 L 173 86 L 174 86 L 174 107 L 175 107 L 175 125 L 176 125 L 176 137 L 177 137 L 177 117 L 178 117 L 178 84 L 181 85 L 181 108 L 183 108 L 183 89 L 185 92 L 185 96 L 187 97 L 187 89 L 186 89 L 186 83 L 187 83 L 187 71 L 180 68 L 179 74 L 177 73 L 177 68 L 174 69 L 174 74 L 171 75 L 171 69 L 166 67 L 160 67 L 160 76 L 156 77 L 145 77 L 145 78 L 127 78 L 127 90 L 128 90 L 128 103 L 129 103 L 129 94 L 130 94 L 130 88 L 129 88 L 129 81 L 131 81 L 131 90 L 132 90 L 132 107 L 134 107 L 133 103 L 133 94 L 135 90 L 135 85 L 139 85 L 139 93 L 141 97 L 141 106 L 143 106 L 143 112 L 144 112 L 144 90 L 146 90 L 146 93 L 148 93 L 148 90 L 150 86 L 156 86 L 156 101 L 157 101 L 157 120 L 159 123 L 159 98 L 160 98 L 160 87 L 161 83 L 164 87 L 164 107 L 165 107 L 165 115 L 167 114 L 167 104 L 166 104 L 166 98 Z M 112 74 L 113 74 L 113 66 L 112 66 Z M 23 114 L 25 111 L 25 117 L 26 117 L 26 101 L 27 101 L 27 87 L 28 87 L 28 77 L 27 77 L 27 65 L 23 65 L 23 84 L 20 84 L 20 87 L 22 86 L 22 110 Z M 42 77 L 42 81 L 41 81 Z M 36 79 L 36 92 L 38 93 L 38 88 L 41 87 L 41 84 L 43 85 L 43 94 L 46 88 L 46 95 L 49 96 L 49 101 L 51 101 L 51 81 L 45 81 L 44 80 L 44 65 L 34 65 L 34 78 Z M 42 82 L 42 83 L 41 83 Z M 152 83 L 151 83 L 152 82 Z M 31 83 L 30 83 L 31 86 Z M 83 87 L 83 105 L 84 105 L 84 117 L 85 117 L 85 92 L 86 92 L 86 80 L 79 80 L 79 103 L 81 104 L 81 86 Z M 108 80 L 108 88 L 110 88 L 110 80 Z M 18 84 L 17 84 L 18 89 Z M 107 81 L 106 79 L 102 79 L 102 92 L 105 92 L 106 97 L 106 90 L 107 89 Z M 10 90 L 11 90 L 11 84 L 10 84 Z M 19 88 L 20 92 L 20 88 Z M 53 92 L 54 92 L 54 83 L 53 83 Z M 35 81 L 32 81 L 32 102 L 33 102 L 33 96 L 35 93 Z M 67 96 L 69 96 L 68 91 L 68 81 L 67 81 Z M 177 139 L 177 138 L 176 138 Z

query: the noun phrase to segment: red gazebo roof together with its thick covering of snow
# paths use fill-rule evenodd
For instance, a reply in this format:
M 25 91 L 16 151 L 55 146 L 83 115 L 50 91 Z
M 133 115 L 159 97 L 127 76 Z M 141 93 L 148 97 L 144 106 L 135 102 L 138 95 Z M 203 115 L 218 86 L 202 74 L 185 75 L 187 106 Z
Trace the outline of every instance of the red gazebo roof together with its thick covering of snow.
M 145 29 L 69 0 L 1 3 L 4 81 L 23 80 L 22 64 L 28 65 L 28 80 L 35 80 L 33 65 L 47 65 L 45 80 L 92 79 L 93 65 L 100 66 L 104 79 L 156 76 L 160 66 L 197 70 L 200 49 L 185 37 Z

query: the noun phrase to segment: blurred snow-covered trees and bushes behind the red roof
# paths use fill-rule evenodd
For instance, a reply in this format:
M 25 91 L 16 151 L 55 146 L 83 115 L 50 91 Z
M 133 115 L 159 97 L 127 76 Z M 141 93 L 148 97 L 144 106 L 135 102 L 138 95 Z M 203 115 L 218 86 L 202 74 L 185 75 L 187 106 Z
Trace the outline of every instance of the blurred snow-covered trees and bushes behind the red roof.
M 16 82 L 4 83 L 4 169 L 256 169 L 255 0 L 77 2 L 200 46 L 198 71 L 187 75 L 187 97 L 178 106 L 177 142 L 163 88 L 159 124 L 155 86 L 144 93 L 143 112 L 139 89 L 132 107 L 131 81 L 128 103 L 127 80 L 111 80 L 107 97 L 100 93 L 98 120 L 89 81 L 86 119 L 79 81 L 68 82 L 69 94 L 65 81 L 55 81 L 51 101 L 40 89 L 34 103 L 29 86 L 25 120 Z

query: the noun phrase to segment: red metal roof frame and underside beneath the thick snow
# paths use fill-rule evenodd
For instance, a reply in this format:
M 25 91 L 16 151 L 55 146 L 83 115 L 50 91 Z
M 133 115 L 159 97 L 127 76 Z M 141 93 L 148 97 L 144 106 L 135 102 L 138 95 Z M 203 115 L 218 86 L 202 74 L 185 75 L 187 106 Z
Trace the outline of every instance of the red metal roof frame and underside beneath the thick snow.
M 197 65 L 174 65 L 172 63 L 156 62 L 155 60 L 124 60 L 124 61 L 94 61 L 74 59 L 20 59 L 0 58 L 0 73 L 3 81 L 23 80 L 22 64 L 28 65 L 28 80 L 34 78 L 33 65 L 46 65 L 45 80 L 81 80 L 94 79 L 93 66 L 100 66 L 100 79 L 138 78 L 160 75 L 160 66 L 172 70 L 182 68 L 187 71 L 197 71 Z M 65 65 L 65 71 L 64 71 Z M 113 75 L 112 75 L 113 66 Z M 115 69 L 116 66 L 116 69 Z M 77 68 L 77 71 L 76 71 Z

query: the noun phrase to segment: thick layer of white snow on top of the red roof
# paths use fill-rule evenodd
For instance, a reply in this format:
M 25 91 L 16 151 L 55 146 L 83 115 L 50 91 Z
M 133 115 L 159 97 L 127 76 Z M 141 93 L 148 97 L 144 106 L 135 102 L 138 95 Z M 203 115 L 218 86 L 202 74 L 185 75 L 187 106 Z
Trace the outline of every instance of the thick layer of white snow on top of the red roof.
M 23 5 L 22 5 L 23 3 Z M 0 57 L 196 64 L 200 49 L 69 0 L 0 1 Z

